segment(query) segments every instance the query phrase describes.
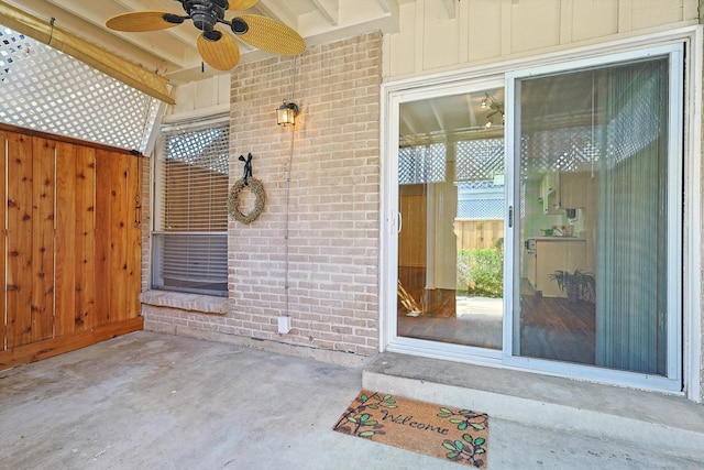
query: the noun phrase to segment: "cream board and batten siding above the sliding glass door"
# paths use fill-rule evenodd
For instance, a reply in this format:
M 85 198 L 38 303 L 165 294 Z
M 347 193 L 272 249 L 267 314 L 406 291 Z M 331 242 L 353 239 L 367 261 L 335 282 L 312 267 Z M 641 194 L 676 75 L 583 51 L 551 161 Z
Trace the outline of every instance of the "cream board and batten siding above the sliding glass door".
M 696 0 L 416 0 L 385 37 L 384 80 L 698 23 Z

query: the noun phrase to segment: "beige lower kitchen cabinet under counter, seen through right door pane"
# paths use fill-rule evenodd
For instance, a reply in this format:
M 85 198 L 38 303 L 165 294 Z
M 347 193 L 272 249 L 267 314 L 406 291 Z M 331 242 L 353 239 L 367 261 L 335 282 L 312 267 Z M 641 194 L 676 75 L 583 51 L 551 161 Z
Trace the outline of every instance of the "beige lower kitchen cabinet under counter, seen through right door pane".
M 531 259 L 532 258 L 532 259 Z M 558 283 L 550 280 L 556 271 L 584 271 L 586 242 L 568 237 L 540 237 L 535 239 L 535 250 L 528 253 L 528 280 L 544 297 L 566 297 Z M 532 269 L 532 273 L 531 273 Z

